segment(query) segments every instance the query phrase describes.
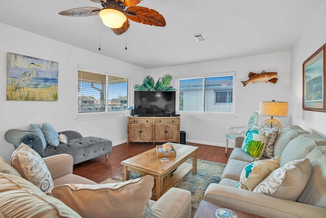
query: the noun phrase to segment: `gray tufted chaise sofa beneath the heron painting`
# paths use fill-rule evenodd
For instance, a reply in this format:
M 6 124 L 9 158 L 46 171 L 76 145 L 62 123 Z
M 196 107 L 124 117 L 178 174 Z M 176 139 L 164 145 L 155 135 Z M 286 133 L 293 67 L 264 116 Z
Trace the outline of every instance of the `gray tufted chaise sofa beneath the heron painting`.
M 33 148 L 41 157 L 48 157 L 57 154 L 69 154 L 73 157 L 73 164 L 106 155 L 112 151 L 112 141 L 99 137 L 83 137 L 82 134 L 68 130 L 59 132 L 67 136 L 67 143 L 61 143 L 58 147 L 47 145 L 43 150 L 41 139 L 35 133 L 11 129 L 5 133 L 5 139 L 14 145 L 16 149 L 21 142 Z

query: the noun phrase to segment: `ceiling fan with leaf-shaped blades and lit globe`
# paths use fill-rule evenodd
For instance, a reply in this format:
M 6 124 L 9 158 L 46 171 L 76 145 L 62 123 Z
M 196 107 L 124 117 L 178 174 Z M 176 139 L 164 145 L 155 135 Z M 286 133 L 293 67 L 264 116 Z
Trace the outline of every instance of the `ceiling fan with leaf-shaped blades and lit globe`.
M 93 7 L 73 8 L 62 11 L 59 14 L 73 17 L 88 17 L 99 15 L 105 26 L 121 35 L 129 28 L 129 20 L 153 25 L 157 27 L 166 26 L 164 17 L 157 11 L 141 6 L 135 6 L 143 0 L 91 0 L 102 4 L 102 9 Z M 128 7 L 128 8 L 126 8 Z

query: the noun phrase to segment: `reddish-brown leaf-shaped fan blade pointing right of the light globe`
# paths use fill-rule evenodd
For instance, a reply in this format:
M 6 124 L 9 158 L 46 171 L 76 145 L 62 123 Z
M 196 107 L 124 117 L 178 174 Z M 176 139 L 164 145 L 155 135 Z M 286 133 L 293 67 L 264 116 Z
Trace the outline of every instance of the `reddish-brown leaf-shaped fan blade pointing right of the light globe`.
M 132 21 L 157 27 L 166 26 L 166 21 L 164 17 L 153 9 L 148 9 L 140 6 L 133 6 L 127 8 L 125 12 L 127 14 L 127 17 Z

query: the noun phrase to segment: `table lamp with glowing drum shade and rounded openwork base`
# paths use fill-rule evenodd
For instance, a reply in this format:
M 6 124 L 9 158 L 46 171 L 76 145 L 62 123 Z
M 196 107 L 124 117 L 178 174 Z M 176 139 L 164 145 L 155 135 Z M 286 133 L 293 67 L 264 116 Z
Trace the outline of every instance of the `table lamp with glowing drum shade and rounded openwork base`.
M 261 125 L 268 128 L 279 128 L 282 130 L 282 125 L 279 120 L 274 119 L 273 116 L 287 116 L 288 103 L 287 102 L 259 102 L 259 115 L 271 116 L 270 119 L 266 119 Z

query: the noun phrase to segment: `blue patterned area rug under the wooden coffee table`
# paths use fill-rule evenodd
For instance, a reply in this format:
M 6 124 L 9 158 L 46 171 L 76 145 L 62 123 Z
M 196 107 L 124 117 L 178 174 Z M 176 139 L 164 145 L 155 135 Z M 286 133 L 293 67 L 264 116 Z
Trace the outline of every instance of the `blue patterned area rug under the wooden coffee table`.
M 189 159 L 187 162 L 191 162 Z M 199 203 L 204 199 L 204 193 L 210 183 L 219 183 L 225 164 L 211 162 L 207 160 L 197 160 L 197 174 L 189 174 L 177 187 L 192 192 L 192 217 L 195 215 Z M 130 172 L 130 179 L 135 179 L 141 175 Z M 106 179 L 101 183 L 114 183 L 123 181 L 123 172 Z

